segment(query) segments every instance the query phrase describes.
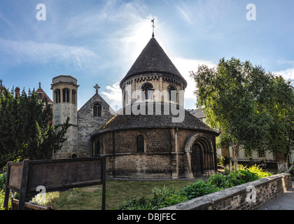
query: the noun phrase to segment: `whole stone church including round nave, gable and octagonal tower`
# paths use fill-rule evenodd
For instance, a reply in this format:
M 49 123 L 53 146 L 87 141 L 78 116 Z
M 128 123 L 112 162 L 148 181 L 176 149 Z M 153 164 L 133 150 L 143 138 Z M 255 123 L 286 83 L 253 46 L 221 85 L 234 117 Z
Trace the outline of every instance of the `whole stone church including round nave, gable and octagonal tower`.
M 216 171 L 216 136 L 183 109 L 186 80 L 154 38 L 120 82 L 115 113 L 96 93 L 79 110 L 78 81 L 52 78 L 54 125 L 72 126 L 53 158 L 106 157 L 109 178 L 193 179 Z

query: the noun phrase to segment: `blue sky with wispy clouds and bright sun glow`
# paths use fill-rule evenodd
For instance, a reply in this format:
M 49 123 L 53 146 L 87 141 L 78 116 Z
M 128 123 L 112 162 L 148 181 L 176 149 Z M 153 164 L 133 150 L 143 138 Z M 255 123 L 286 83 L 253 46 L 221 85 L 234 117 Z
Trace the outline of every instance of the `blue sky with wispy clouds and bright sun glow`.
M 41 5 L 39 5 L 41 3 Z M 52 99 L 52 78 L 78 80 L 78 108 L 99 94 L 121 108 L 120 80 L 152 36 L 186 78 L 225 57 L 249 60 L 294 79 L 293 0 L 1 0 L 0 79 Z

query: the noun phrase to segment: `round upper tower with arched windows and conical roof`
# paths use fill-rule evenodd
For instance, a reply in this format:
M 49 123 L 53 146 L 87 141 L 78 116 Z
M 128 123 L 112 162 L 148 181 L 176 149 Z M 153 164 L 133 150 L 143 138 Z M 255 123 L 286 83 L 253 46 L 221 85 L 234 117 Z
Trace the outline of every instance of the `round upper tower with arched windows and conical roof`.
M 183 106 L 187 82 L 153 37 L 120 82 L 123 107 L 138 102 L 164 102 Z

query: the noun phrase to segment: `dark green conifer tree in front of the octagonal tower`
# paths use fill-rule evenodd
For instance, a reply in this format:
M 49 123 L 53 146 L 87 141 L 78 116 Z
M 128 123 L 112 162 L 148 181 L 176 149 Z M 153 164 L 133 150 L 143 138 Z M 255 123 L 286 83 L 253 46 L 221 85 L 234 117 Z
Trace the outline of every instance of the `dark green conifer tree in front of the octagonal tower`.
M 40 104 L 34 91 L 23 90 L 18 97 L 5 90 L 0 95 L 0 165 L 16 159 L 52 158 L 66 140 L 69 118 L 61 126 L 55 132 L 50 105 L 46 99 Z

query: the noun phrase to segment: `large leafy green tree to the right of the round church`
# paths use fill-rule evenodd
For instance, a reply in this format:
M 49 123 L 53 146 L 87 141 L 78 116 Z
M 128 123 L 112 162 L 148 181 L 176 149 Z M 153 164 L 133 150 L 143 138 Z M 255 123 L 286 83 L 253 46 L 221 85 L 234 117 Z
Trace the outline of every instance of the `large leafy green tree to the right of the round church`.
M 192 71 L 190 75 L 196 82 L 197 106 L 202 107 L 207 123 L 221 131 L 218 146 L 232 146 L 235 165 L 240 146 L 247 153 L 262 149 L 276 151 L 276 146 L 288 141 L 285 129 L 287 127 L 290 132 L 293 123 L 292 126 L 281 125 L 282 119 L 276 116 L 276 110 L 281 110 L 279 88 L 290 90 L 283 82 L 276 85 L 272 73 L 232 57 L 228 61 L 221 59 L 212 69 L 199 66 L 197 72 Z M 287 100 L 283 100 L 283 104 Z M 287 102 L 286 110 L 289 109 Z M 279 148 L 283 152 L 284 149 Z

